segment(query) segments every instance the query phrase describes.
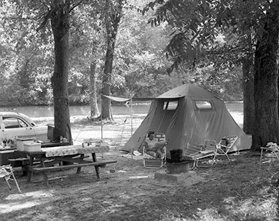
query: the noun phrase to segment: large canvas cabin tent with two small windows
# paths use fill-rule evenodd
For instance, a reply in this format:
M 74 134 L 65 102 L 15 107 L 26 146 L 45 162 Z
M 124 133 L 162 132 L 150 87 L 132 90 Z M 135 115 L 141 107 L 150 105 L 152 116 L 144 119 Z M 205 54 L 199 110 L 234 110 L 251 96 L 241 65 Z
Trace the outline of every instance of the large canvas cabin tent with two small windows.
M 195 153 L 205 139 L 219 142 L 226 135 L 239 137 L 232 151 L 251 146 L 251 139 L 234 121 L 225 103 L 193 84 L 183 84 L 153 100 L 147 116 L 122 150 L 141 150 L 151 130 L 165 133 L 168 156 L 170 149 L 177 148 L 183 149 L 184 155 Z

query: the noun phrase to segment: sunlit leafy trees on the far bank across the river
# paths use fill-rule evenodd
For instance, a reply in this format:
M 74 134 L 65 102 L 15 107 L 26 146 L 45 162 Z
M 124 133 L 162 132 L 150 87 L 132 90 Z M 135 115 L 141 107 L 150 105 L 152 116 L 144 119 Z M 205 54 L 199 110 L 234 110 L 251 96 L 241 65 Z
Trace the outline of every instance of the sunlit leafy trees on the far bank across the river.
M 206 75 L 203 74 L 206 70 L 210 69 L 210 73 L 216 73 L 216 75 L 228 72 L 229 70 L 224 69 L 229 65 L 224 65 L 223 61 L 232 61 L 232 57 L 237 60 L 241 57 L 238 54 L 239 47 L 231 47 L 232 44 L 229 42 L 229 40 L 239 38 L 232 38 L 232 35 L 228 34 L 224 38 L 224 42 L 229 43 L 228 45 L 225 45 L 223 40 L 213 40 L 211 47 L 199 47 L 199 53 L 193 48 L 191 51 L 193 54 L 188 54 L 188 61 L 191 62 L 183 63 L 183 66 L 169 74 L 167 68 L 175 59 L 172 57 L 173 54 L 176 55 L 174 49 L 181 47 L 179 45 L 170 46 L 172 54 L 168 54 L 169 59 L 164 55 L 165 48 L 172 36 L 178 34 L 183 26 L 177 26 L 179 29 L 176 29 L 175 26 L 166 25 L 164 17 L 161 16 L 160 19 L 156 18 L 157 21 L 153 22 L 154 27 L 151 28 L 148 21 L 149 17 L 153 15 L 153 11 L 140 9 L 144 8 L 148 2 L 148 0 L 130 0 L 126 1 L 123 8 L 123 17 L 114 52 L 112 95 L 130 96 L 135 93 L 137 97 L 153 97 L 181 83 L 193 82 L 205 86 L 206 83 L 202 82 L 206 82 Z M 156 3 L 160 4 L 163 1 Z M 158 8 L 156 3 L 151 3 L 149 8 L 156 10 Z M 176 1 L 172 3 L 173 10 L 179 10 L 175 7 L 175 3 Z M 183 3 L 182 6 L 185 4 Z M 97 92 L 100 93 L 101 89 L 106 45 L 103 22 L 104 1 L 73 1 L 73 6 L 76 7 L 71 10 L 70 14 L 69 100 L 72 105 L 88 104 L 89 68 L 92 61 L 96 61 L 97 64 Z M 1 1 L 0 10 L 0 74 L 3 83 L 0 85 L 0 105 L 52 104 L 50 79 L 54 70 L 54 47 L 50 23 L 45 22 L 43 29 L 37 31 L 47 17 L 50 1 Z M 172 20 L 172 15 L 167 9 L 165 11 L 169 22 L 179 25 L 179 16 L 183 16 L 183 13 L 176 15 L 176 21 Z M 202 20 L 198 16 L 197 10 L 193 13 L 196 14 L 198 20 Z M 160 22 L 160 26 L 155 26 L 158 22 Z M 196 29 L 200 29 L 200 27 L 196 26 Z M 175 32 L 170 35 L 174 30 Z M 214 31 L 217 34 L 222 30 L 216 26 Z M 188 34 L 190 34 L 189 31 Z M 199 36 L 201 39 L 206 38 L 202 32 L 199 33 Z M 185 36 L 182 37 L 183 40 L 187 40 Z M 194 43 L 200 45 L 197 40 Z M 214 44 L 216 45 L 214 46 Z M 183 45 L 183 47 L 186 46 L 187 44 Z M 225 51 L 227 54 L 223 56 L 222 61 L 221 55 Z M 192 55 L 199 55 L 196 56 L 195 62 Z M 197 58 L 204 63 L 199 63 Z M 193 63 L 195 63 L 195 68 L 199 68 L 199 70 L 205 68 L 205 70 L 195 73 Z M 215 69 L 212 69 L 212 64 Z M 234 68 L 235 62 L 232 62 L 231 65 L 231 68 Z M 194 81 L 192 75 L 194 78 L 196 76 L 198 80 Z M 230 79 L 233 80 L 234 77 Z M 232 84 L 232 82 L 228 84 Z M 225 89 L 224 85 L 220 84 L 220 88 Z M 241 98 L 241 90 L 235 91 L 232 96 L 226 96 L 227 89 L 221 94 L 223 98 L 233 100 Z M 216 89 L 216 91 L 220 91 L 220 89 Z

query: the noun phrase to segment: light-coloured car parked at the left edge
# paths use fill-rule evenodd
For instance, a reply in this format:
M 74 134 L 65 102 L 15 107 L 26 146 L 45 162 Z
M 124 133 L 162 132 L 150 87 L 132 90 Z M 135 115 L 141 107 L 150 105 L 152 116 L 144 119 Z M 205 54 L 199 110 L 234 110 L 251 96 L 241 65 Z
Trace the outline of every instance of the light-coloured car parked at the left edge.
M 11 111 L 0 111 L 0 141 L 35 138 L 47 142 L 47 125 L 37 125 L 29 116 Z

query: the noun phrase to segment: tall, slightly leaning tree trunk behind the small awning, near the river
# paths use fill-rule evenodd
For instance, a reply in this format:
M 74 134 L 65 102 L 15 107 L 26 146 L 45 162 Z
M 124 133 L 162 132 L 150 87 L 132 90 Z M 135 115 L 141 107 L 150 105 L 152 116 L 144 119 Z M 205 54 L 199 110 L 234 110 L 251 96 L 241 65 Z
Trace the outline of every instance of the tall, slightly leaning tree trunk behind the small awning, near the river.
M 110 96 L 110 86 L 112 85 L 112 64 L 114 57 L 114 47 L 116 42 L 116 34 L 122 15 L 122 0 L 113 6 L 111 0 L 106 0 L 105 28 L 107 30 L 107 53 L 105 54 L 105 68 L 103 75 L 104 95 Z M 112 105 L 110 99 L 102 97 L 102 117 L 112 120 Z

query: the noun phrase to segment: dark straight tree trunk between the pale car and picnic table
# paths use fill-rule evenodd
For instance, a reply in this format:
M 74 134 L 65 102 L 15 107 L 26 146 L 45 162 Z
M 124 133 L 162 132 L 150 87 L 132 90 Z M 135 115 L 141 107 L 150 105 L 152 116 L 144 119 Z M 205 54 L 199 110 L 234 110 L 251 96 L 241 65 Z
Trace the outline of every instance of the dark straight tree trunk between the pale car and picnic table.
M 54 127 L 73 143 L 70 131 L 68 107 L 68 12 L 70 1 L 52 1 L 51 24 L 54 36 L 54 73 L 52 89 L 54 97 Z

